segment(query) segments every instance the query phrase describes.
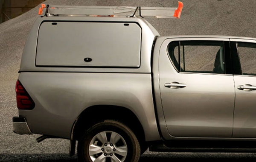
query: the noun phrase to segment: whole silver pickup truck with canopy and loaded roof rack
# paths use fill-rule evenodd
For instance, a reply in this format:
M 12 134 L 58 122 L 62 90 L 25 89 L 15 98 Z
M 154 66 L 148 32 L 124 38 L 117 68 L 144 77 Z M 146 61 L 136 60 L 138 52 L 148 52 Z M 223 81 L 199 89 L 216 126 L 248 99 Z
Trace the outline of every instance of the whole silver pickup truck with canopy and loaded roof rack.
M 78 141 L 89 162 L 137 162 L 148 147 L 255 151 L 256 39 L 159 36 L 142 15 L 161 8 L 43 11 L 20 64 L 15 133 L 69 139 L 70 155 Z

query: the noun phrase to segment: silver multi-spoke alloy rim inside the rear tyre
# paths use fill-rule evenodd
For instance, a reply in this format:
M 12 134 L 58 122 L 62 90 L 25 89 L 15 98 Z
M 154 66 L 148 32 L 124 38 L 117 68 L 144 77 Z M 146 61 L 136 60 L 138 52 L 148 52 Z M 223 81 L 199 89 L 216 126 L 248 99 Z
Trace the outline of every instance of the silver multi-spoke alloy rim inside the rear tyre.
M 89 155 L 93 162 L 124 162 L 127 144 L 120 134 L 102 131 L 90 141 Z

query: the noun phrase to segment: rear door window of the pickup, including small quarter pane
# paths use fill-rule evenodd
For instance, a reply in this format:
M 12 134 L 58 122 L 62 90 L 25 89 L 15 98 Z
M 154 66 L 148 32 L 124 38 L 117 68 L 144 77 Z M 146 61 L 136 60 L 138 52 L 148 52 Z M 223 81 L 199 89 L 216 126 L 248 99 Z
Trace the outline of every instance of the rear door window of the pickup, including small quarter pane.
M 225 73 L 221 41 L 175 41 L 169 44 L 168 53 L 179 72 Z

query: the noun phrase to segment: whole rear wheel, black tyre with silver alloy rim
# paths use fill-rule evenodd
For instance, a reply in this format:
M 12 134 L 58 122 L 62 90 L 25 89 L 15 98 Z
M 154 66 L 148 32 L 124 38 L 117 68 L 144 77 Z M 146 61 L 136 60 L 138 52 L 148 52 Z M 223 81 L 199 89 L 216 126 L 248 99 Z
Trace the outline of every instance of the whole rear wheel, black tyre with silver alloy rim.
M 138 162 L 140 144 L 130 128 L 105 120 L 81 136 L 77 152 L 82 162 Z

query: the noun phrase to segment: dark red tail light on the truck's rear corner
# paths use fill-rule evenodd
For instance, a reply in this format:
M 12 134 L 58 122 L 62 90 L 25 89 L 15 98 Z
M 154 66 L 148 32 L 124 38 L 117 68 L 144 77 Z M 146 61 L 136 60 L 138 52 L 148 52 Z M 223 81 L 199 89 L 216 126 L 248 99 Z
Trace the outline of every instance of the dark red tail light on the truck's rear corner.
M 18 109 L 33 109 L 35 107 L 35 103 L 32 98 L 29 96 L 26 89 L 20 84 L 20 81 L 16 82 L 16 100 Z

